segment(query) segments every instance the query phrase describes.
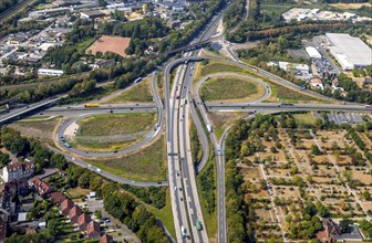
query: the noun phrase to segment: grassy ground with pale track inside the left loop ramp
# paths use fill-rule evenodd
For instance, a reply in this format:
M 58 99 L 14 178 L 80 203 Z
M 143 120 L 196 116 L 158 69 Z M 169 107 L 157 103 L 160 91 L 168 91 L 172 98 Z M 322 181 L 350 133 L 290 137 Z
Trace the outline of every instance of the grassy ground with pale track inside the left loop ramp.
M 73 147 L 94 151 L 123 149 L 142 139 L 155 123 L 155 114 L 103 114 L 79 120 Z

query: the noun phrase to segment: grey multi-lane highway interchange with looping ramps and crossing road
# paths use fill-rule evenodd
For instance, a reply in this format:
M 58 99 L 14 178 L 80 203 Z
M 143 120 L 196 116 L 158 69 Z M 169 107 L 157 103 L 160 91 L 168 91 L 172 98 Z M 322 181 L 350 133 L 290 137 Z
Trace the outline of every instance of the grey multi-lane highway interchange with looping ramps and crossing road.
M 227 7 L 226 7 L 227 8 Z M 217 24 L 223 18 L 225 10 L 215 15 L 205 30 L 194 39 L 190 47 L 200 47 L 211 39 Z M 197 44 L 202 43 L 202 44 Z M 189 47 L 189 46 L 188 46 Z M 179 49 L 177 52 L 188 50 Z M 200 207 L 199 193 L 196 186 L 196 173 L 200 171 L 209 158 L 209 142 L 211 144 L 213 152 L 216 155 L 217 166 L 217 210 L 218 210 L 218 242 L 227 242 L 227 223 L 226 223 L 226 207 L 225 207 L 225 138 L 228 136 L 228 129 L 225 130 L 221 138 L 218 140 L 214 130 L 206 127 L 210 126 L 208 113 L 210 112 L 250 112 L 255 116 L 256 113 L 280 113 L 280 112 L 353 112 L 353 113 L 371 113 L 365 109 L 362 104 L 282 104 L 282 103 L 261 103 L 264 99 L 271 95 L 270 87 L 261 81 L 261 77 L 269 78 L 272 82 L 285 85 L 291 89 L 306 93 L 322 99 L 334 102 L 329 97 L 322 96 L 318 93 L 303 89 L 281 77 L 278 77 L 269 72 L 259 70 L 251 65 L 241 63 L 236 55 L 235 60 L 227 60 L 217 56 L 199 56 L 198 50 L 185 52 L 182 57 L 173 60 L 164 65 L 164 103 L 158 94 L 156 84 L 157 72 L 151 75 L 151 89 L 153 94 L 153 103 L 138 103 L 138 104 L 121 104 L 121 105 L 100 105 L 96 107 L 85 107 L 84 105 L 69 105 L 55 107 L 53 106 L 64 95 L 52 97 L 29 106 L 10 110 L 9 114 L 1 115 L 0 124 L 7 124 L 19 117 L 24 117 L 29 114 L 43 114 L 43 115 L 78 115 L 75 118 L 62 124 L 58 129 L 55 139 L 61 149 L 50 149 L 63 154 L 71 162 L 81 167 L 87 168 L 101 176 L 123 184 L 131 184 L 137 187 L 164 187 L 168 186 L 172 198 L 172 210 L 174 216 L 174 224 L 176 229 L 176 242 L 208 242 L 208 235 L 205 229 L 197 230 L 196 221 L 205 225 L 203 211 Z M 197 81 L 193 86 L 194 73 L 196 63 L 203 60 L 217 60 L 227 62 L 229 64 L 246 68 L 256 73 L 258 76 L 242 75 L 236 73 L 224 73 L 204 76 Z M 176 76 L 170 81 L 170 71 L 177 68 Z M 199 96 L 199 88 L 204 82 L 213 77 L 236 76 L 240 78 L 250 78 L 258 85 L 264 86 L 265 94 L 256 101 L 247 103 L 231 103 L 231 102 L 204 102 Z M 170 83 L 173 83 L 172 86 Z M 192 89 L 194 87 L 194 89 Z M 157 122 L 154 128 L 145 136 L 138 144 L 128 148 L 110 151 L 110 152 L 87 152 L 75 148 L 65 147 L 63 137 L 65 129 L 73 123 L 85 117 L 96 114 L 120 114 L 120 113 L 156 113 Z M 198 115 L 200 114 L 200 117 Z M 189 116 L 190 115 L 190 116 Z M 189 138 L 189 123 L 193 118 L 198 135 L 200 137 L 203 157 L 197 167 L 194 167 L 194 160 L 190 155 L 190 138 Z M 137 151 L 138 149 L 147 146 L 164 130 L 166 131 L 167 144 L 167 181 L 141 182 L 121 178 L 104 170 L 99 170 L 90 163 L 83 161 L 79 157 L 93 157 L 106 158 L 118 155 L 128 155 Z

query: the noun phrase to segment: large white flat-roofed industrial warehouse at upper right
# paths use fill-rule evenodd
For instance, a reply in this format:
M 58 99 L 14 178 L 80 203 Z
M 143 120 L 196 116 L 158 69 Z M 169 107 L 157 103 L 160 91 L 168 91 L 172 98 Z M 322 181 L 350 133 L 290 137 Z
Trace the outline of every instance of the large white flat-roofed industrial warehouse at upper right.
M 329 49 L 343 70 L 364 68 L 372 64 L 372 50 L 350 34 L 327 33 Z

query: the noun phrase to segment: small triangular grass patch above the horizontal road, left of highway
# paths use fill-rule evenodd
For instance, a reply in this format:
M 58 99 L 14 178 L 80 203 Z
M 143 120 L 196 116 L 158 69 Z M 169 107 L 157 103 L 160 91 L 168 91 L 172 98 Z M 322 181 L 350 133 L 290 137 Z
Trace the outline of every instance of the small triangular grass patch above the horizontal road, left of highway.
M 121 103 L 134 103 L 134 102 L 152 102 L 153 95 L 149 87 L 149 78 L 144 80 L 133 88 L 116 95 L 107 101 L 103 101 L 102 104 L 121 104 Z

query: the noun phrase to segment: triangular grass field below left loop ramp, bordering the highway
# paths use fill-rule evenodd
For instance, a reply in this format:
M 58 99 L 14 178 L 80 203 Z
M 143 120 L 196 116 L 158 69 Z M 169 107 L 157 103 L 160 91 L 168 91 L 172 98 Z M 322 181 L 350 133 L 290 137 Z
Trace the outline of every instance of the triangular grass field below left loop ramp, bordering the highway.
M 166 179 L 165 145 L 165 138 L 162 136 L 153 145 L 136 154 L 89 162 L 120 177 L 140 181 L 161 181 Z

